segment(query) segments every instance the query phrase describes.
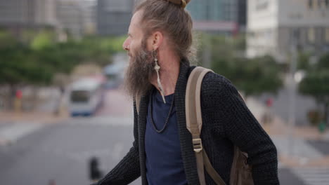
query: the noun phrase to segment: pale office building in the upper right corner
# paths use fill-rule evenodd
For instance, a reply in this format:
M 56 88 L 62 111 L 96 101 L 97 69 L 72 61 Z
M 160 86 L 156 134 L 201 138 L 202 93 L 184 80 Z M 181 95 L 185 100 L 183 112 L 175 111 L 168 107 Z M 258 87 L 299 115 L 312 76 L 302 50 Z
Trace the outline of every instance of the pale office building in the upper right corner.
M 247 57 L 285 62 L 292 46 L 314 55 L 329 51 L 328 0 L 249 0 Z

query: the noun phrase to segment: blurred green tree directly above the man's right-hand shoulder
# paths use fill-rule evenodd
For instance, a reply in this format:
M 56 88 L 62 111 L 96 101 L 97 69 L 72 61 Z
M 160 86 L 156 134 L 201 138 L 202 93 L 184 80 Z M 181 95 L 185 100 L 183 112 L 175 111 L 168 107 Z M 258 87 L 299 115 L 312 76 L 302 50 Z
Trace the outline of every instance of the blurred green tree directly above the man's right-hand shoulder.
M 226 76 L 246 96 L 277 93 L 283 85 L 280 67 L 269 56 L 254 59 L 221 59 L 213 62 L 212 69 Z

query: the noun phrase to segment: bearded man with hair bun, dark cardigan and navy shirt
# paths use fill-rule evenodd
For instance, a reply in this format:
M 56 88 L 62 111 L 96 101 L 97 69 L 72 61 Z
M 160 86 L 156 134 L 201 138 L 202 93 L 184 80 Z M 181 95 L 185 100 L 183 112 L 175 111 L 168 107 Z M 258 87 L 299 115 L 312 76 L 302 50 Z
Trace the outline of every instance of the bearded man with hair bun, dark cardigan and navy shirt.
M 136 6 L 123 43 L 129 55 L 125 85 L 134 97 L 134 143 L 98 185 L 200 184 L 185 93 L 193 55 L 188 0 L 146 0 Z M 136 102 L 138 107 L 136 106 Z M 279 184 L 276 146 L 224 76 L 208 73 L 201 86 L 202 144 L 225 184 L 233 146 L 245 151 L 254 184 Z M 206 184 L 215 184 L 205 172 Z

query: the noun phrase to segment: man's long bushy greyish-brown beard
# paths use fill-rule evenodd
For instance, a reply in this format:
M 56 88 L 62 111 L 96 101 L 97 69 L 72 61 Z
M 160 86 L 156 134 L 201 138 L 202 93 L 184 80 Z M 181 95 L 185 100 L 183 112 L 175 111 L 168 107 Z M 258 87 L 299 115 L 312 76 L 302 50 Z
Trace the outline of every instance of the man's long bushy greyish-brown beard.
M 152 53 L 141 48 L 129 61 L 124 88 L 131 97 L 141 97 L 152 88 L 150 78 L 155 74 Z

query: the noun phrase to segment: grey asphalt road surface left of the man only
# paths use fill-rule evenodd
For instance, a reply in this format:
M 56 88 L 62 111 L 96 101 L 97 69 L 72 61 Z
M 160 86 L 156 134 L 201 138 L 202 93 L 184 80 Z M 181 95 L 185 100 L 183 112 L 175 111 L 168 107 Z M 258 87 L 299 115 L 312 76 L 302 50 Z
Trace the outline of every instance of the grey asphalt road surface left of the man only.
M 108 172 L 129 151 L 133 139 L 127 118 L 120 123 L 118 118 L 107 118 L 108 124 L 103 119 L 48 125 L 0 146 L 0 184 L 41 185 L 49 179 L 56 184 L 89 184 L 88 160 L 98 157 L 101 169 Z

